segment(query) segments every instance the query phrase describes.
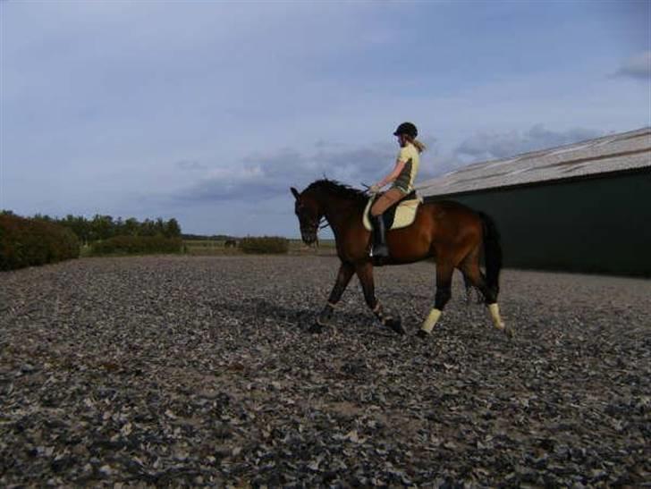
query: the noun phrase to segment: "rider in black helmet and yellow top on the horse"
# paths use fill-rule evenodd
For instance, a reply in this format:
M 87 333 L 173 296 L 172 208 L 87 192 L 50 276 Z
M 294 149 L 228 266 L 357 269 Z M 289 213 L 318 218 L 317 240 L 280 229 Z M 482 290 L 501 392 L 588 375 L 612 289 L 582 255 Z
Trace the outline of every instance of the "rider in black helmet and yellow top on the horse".
M 378 193 L 385 185 L 393 185 L 376 201 L 371 207 L 371 222 L 373 223 L 373 256 L 379 258 L 389 257 L 389 249 L 386 247 L 386 230 L 385 222 L 382 219 L 382 213 L 386 209 L 402 200 L 412 190 L 413 184 L 418 173 L 419 154 L 425 149 L 425 145 L 418 141 L 418 129 L 411 122 L 402 122 L 393 132 L 393 136 L 398 137 L 400 152 L 396 159 L 393 171 L 385 176 L 381 181 L 371 185 L 369 192 Z

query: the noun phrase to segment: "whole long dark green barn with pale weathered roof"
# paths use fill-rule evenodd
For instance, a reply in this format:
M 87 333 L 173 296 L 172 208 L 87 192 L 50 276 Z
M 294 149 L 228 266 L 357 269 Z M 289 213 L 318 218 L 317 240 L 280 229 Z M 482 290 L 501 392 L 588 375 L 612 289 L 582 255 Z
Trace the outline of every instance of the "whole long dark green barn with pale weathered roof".
M 471 164 L 418 191 L 491 215 L 504 266 L 651 276 L 651 127 Z

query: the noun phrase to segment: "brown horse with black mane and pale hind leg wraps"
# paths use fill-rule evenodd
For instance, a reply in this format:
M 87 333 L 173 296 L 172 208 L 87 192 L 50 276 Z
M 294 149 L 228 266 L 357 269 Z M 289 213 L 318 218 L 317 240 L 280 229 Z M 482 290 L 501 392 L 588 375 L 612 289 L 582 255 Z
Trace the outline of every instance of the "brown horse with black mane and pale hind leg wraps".
M 306 244 L 317 241 L 319 224 L 323 219 L 330 224 L 336 240 L 337 255 L 341 260 L 339 274 L 334 282 L 325 308 L 310 329 L 320 332 L 332 318 L 334 306 L 342 297 L 353 274 L 357 274 L 368 308 L 383 325 L 396 333 L 404 333 L 400 317 L 385 315 L 376 299 L 373 283 L 373 258 L 369 256 L 370 232 L 362 223 L 368 194 L 337 181 L 314 181 L 302 192 L 291 188 L 296 198 L 295 212 L 300 222 L 300 235 Z M 483 213 L 452 201 L 422 204 L 414 223 L 409 227 L 387 232 L 390 257 L 383 265 L 403 265 L 434 258 L 436 262 L 436 293 L 434 308 L 423 322 L 418 334 L 432 332 L 447 301 L 451 298 L 452 273 L 461 270 L 467 286 L 481 292 L 495 327 L 511 334 L 500 317 L 497 306 L 499 274 L 502 267 L 502 249 L 493 220 Z M 484 254 L 486 275 L 479 267 Z

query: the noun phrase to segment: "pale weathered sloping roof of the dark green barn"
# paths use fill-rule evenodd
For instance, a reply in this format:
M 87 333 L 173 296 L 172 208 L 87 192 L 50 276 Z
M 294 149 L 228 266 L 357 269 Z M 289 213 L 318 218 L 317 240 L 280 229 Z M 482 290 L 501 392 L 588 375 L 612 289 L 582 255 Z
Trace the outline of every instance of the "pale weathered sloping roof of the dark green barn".
M 416 188 L 424 197 L 651 169 L 651 127 L 464 166 Z

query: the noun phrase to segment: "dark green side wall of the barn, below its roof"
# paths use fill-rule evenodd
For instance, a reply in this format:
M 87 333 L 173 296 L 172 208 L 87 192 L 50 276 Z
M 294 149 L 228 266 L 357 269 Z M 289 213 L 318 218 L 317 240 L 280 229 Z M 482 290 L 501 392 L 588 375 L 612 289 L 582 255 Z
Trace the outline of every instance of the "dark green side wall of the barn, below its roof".
M 495 219 L 504 266 L 651 277 L 651 172 L 442 199 Z

